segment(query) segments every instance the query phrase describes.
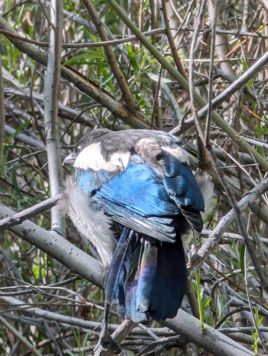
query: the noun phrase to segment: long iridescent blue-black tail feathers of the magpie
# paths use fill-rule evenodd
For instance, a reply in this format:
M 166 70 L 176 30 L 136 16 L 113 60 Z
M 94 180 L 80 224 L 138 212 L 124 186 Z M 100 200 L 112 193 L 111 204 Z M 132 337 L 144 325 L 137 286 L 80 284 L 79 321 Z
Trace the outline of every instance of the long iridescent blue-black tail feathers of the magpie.
M 182 241 L 161 242 L 125 228 L 106 275 L 106 301 L 122 319 L 147 323 L 177 315 L 187 291 Z

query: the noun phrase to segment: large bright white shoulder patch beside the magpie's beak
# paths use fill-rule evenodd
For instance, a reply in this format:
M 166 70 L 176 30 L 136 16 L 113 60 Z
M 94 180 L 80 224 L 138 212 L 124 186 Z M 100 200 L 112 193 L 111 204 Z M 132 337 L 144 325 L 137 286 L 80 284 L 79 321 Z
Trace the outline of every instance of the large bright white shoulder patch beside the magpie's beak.
M 81 169 L 94 169 L 94 171 L 100 171 L 105 169 L 109 172 L 114 172 L 119 167 L 121 171 L 125 171 L 127 164 L 130 160 L 129 152 L 114 152 L 111 155 L 110 161 L 105 161 L 101 154 L 100 143 L 91 143 L 88 147 L 85 147 L 81 151 L 74 162 L 75 168 Z

